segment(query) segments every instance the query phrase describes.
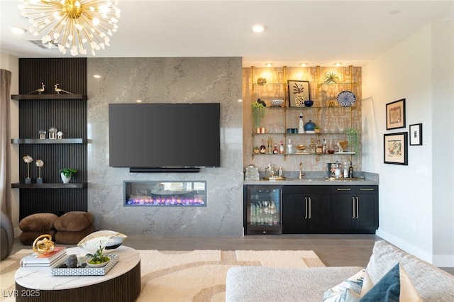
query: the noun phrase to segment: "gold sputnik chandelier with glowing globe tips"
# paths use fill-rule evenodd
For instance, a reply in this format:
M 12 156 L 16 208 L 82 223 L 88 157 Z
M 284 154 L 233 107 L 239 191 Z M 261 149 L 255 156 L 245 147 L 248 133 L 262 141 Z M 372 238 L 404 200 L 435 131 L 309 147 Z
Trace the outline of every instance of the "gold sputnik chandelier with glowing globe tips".
M 116 5 L 116 0 L 23 0 L 19 9 L 32 23 L 31 33 L 43 35 L 43 44 L 75 56 L 110 46 L 120 18 Z

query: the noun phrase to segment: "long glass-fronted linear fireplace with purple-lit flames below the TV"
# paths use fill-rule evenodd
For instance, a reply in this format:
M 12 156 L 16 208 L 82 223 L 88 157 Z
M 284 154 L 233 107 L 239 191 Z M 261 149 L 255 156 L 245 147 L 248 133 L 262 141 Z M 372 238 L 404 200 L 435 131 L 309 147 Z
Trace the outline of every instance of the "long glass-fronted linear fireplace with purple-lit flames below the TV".
M 206 181 L 124 181 L 124 206 L 206 206 Z

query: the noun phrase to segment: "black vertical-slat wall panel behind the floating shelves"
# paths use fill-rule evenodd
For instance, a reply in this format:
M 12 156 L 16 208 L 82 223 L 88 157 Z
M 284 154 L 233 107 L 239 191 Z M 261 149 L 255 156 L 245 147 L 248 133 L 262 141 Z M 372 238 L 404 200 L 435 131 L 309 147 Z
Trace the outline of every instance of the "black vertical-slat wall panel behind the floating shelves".
M 45 84 L 43 94 L 56 94 L 54 85 L 73 94 L 87 95 L 87 58 L 19 59 L 19 91 L 28 94 Z M 87 139 L 87 101 L 81 99 L 30 99 L 19 101 L 19 138 L 38 138 L 40 129 L 55 127 L 63 138 Z M 48 135 L 46 135 L 48 137 Z M 41 177 L 46 184 L 61 183 L 59 170 L 77 169 L 71 183 L 87 182 L 87 145 L 21 144 L 19 156 L 33 157 L 30 176 L 38 177 L 35 160 L 44 161 Z M 19 177 L 26 178 L 26 164 L 20 162 Z M 33 213 L 62 215 L 68 211 L 87 211 L 87 188 L 20 189 L 19 219 Z

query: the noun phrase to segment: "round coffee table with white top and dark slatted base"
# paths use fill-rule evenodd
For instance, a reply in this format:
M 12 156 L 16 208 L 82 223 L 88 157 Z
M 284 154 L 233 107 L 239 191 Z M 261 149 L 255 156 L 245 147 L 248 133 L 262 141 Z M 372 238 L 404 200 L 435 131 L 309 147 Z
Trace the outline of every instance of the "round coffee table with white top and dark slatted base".
M 80 252 L 79 247 L 67 249 L 67 255 Z M 140 293 L 140 255 L 123 245 L 112 252 L 119 261 L 104 276 L 52 276 L 51 269 L 18 269 L 16 301 L 135 301 Z

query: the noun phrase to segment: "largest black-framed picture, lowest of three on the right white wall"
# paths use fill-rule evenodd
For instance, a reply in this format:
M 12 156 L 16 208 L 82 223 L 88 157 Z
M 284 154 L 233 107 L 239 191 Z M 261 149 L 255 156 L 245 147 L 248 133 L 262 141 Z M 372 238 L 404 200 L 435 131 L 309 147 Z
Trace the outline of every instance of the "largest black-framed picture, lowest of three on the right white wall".
M 384 134 L 383 154 L 385 164 L 408 165 L 408 133 Z

